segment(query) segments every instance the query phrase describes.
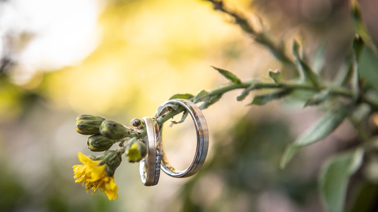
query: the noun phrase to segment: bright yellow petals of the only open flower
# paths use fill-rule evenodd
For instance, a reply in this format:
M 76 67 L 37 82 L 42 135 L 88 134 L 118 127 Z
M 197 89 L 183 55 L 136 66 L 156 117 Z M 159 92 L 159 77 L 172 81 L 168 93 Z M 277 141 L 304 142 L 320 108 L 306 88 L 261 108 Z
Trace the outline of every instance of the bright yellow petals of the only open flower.
M 72 166 L 75 182 L 82 183 L 86 191 L 92 189 L 95 193 L 100 190 L 107 195 L 109 200 L 117 199 L 118 186 L 114 182 L 114 176 L 106 176 L 105 165 L 99 165 L 100 160 L 91 160 L 81 152 L 77 154 L 77 157 L 83 165 Z

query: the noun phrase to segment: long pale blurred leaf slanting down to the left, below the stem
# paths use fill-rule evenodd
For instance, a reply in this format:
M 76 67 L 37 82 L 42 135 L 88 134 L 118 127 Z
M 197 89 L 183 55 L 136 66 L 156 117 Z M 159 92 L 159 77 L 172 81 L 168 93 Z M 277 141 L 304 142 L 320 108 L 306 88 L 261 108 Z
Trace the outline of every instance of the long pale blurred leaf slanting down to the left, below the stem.
M 281 158 L 280 167 L 285 168 L 292 157 L 294 157 L 302 147 L 326 138 L 326 136 L 343 123 L 345 117 L 349 114 L 349 109 L 348 106 L 341 106 L 337 109 L 328 110 L 322 118 L 286 148 Z

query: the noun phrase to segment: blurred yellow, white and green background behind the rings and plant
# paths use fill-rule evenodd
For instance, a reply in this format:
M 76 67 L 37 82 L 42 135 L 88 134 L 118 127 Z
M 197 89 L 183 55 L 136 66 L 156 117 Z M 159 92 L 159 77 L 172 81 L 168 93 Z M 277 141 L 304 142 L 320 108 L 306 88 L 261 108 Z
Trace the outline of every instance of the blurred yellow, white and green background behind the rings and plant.
M 272 36 L 286 41 L 289 53 L 294 36 L 308 55 L 322 49 L 325 77 L 333 79 L 343 68 L 353 38 L 348 0 L 226 3 L 253 23 L 260 16 Z M 360 3 L 378 41 L 378 2 Z M 162 174 L 157 186 L 144 187 L 138 164 L 125 159 L 115 174 L 117 201 L 86 194 L 74 183 L 77 152 L 93 154 L 86 136 L 75 131 L 78 115 L 123 124 L 153 116 L 175 93 L 227 83 L 211 65 L 242 79 L 269 80 L 269 69 L 281 70 L 231 22 L 203 0 L 0 0 L 0 211 L 324 211 L 317 194 L 319 167 L 356 140 L 353 127 L 344 123 L 280 170 L 285 146 L 321 111 L 303 109 L 295 98 L 245 106 L 251 99 L 237 102 L 239 91 L 204 111 L 210 148 L 197 175 Z M 377 59 L 367 57 L 365 64 L 373 69 Z M 189 119 L 164 127 L 174 165 L 191 161 L 194 136 Z M 353 201 L 347 204 L 353 208 Z

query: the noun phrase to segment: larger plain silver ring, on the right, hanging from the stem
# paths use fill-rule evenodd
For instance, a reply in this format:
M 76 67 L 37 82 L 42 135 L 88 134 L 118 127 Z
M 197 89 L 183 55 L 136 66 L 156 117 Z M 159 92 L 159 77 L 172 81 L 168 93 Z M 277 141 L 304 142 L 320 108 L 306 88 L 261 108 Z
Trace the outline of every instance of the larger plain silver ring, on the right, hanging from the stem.
M 167 175 L 171 177 L 189 177 L 197 173 L 205 162 L 209 142 L 207 124 L 205 116 L 200 110 L 200 108 L 198 108 L 198 106 L 186 99 L 172 99 L 163 103 L 163 105 L 161 105 L 159 109 L 156 111 L 155 117 L 160 117 L 164 112 L 164 109 L 172 105 L 183 106 L 187 110 L 187 112 L 189 112 L 191 118 L 193 119 L 197 133 L 196 153 L 193 161 L 188 166 L 188 168 L 181 171 L 172 167 L 166 155 L 164 154 L 163 146 L 161 146 L 161 169 L 163 170 L 163 172 L 165 172 Z M 162 141 L 162 128 L 163 124 L 161 124 L 159 131 L 160 141 Z

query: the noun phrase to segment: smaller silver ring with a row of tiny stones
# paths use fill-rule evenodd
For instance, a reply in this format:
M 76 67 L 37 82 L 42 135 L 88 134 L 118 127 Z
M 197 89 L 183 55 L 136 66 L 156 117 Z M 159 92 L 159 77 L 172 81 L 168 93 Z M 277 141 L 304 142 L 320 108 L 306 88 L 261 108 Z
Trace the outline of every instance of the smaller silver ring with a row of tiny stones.
M 145 138 L 147 154 L 139 162 L 139 174 L 145 186 L 154 186 L 159 182 L 160 177 L 161 142 L 159 125 L 156 119 L 152 117 L 143 117 L 142 120 L 147 131 Z

